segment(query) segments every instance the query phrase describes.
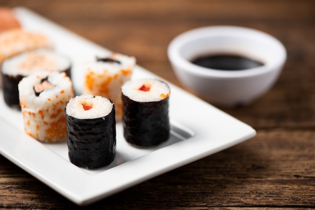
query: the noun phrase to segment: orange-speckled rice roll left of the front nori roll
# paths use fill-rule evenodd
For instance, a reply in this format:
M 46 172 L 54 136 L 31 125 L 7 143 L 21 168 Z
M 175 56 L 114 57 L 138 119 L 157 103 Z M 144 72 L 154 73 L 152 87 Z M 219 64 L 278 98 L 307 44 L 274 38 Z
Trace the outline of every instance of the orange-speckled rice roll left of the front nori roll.
M 64 107 L 74 97 L 70 78 L 64 72 L 35 73 L 18 88 L 25 132 L 40 142 L 65 141 Z

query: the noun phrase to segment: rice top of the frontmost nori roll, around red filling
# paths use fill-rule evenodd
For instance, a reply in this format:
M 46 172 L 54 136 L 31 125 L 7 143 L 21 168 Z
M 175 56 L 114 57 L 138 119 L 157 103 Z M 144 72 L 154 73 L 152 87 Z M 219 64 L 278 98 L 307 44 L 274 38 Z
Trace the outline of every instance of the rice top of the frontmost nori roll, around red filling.
M 83 104 L 91 106 L 85 110 Z M 77 119 L 96 119 L 109 115 L 113 110 L 113 103 L 105 97 L 93 95 L 77 95 L 66 105 L 66 114 Z

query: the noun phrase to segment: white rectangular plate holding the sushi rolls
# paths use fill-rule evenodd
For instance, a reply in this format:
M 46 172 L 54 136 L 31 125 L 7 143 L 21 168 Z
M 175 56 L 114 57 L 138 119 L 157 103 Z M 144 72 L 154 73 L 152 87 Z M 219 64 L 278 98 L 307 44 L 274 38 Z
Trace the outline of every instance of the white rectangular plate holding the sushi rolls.
M 84 62 L 110 51 L 28 9 L 15 8 L 15 12 L 25 29 L 47 35 L 55 50 L 71 59 L 73 86 L 80 92 Z M 134 78 L 159 77 L 136 66 Z M 21 112 L 6 106 L 0 90 L 0 153 L 69 200 L 85 205 L 256 135 L 245 123 L 168 83 L 172 124 L 169 141 L 155 148 L 134 148 L 124 140 L 118 122 L 116 158 L 111 165 L 95 170 L 71 164 L 66 143 L 43 144 L 27 136 Z

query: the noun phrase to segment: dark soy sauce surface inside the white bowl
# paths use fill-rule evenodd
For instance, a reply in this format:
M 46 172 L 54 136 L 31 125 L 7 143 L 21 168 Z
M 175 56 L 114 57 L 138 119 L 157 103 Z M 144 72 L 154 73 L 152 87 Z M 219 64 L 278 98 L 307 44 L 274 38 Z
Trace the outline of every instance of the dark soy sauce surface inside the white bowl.
M 264 65 L 239 55 L 208 55 L 198 57 L 191 61 L 192 63 L 217 70 L 242 70 Z

